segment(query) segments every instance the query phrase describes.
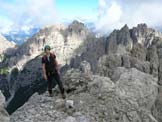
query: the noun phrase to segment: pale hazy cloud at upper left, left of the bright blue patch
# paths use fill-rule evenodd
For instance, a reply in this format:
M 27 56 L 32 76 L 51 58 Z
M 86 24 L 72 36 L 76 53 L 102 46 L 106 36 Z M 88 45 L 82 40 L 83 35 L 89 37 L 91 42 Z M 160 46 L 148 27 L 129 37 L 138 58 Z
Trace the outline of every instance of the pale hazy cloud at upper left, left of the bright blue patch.
M 23 25 L 43 26 L 57 21 L 54 0 L 14 0 L 13 2 L 0 0 L 0 8 L 0 12 L 5 13 L 8 20 L 17 28 Z

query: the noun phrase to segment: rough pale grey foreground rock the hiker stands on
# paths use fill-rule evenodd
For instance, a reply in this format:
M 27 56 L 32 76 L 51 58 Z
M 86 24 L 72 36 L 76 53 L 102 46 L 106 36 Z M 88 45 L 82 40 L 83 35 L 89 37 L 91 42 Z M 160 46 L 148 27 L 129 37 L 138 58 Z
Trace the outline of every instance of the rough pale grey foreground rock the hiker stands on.
M 157 78 L 120 68 L 113 82 L 109 77 L 87 76 L 85 62 L 81 67 L 68 70 L 63 77 L 66 100 L 60 99 L 56 89 L 53 98 L 35 94 L 11 115 L 11 122 L 157 122 L 151 113 L 158 94 Z

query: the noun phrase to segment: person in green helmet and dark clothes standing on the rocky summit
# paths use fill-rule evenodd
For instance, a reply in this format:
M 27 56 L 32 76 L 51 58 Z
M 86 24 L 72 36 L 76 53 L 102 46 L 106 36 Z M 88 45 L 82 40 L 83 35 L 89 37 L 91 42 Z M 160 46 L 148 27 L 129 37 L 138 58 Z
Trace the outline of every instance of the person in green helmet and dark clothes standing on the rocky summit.
M 65 90 L 60 79 L 59 66 L 56 60 L 56 55 L 50 52 L 51 48 L 49 45 L 44 47 L 44 55 L 42 57 L 42 69 L 43 69 L 43 77 L 48 83 L 48 92 L 49 96 L 52 97 L 52 84 L 53 79 L 55 79 L 56 83 L 59 86 L 59 89 L 62 94 L 62 98 L 65 99 Z

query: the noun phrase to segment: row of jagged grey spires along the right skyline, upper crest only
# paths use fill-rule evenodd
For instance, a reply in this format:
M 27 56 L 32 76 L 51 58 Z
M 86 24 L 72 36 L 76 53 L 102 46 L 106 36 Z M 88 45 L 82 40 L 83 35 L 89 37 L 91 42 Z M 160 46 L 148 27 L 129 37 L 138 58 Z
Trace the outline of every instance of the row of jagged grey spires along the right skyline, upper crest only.
M 115 52 L 117 45 L 124 45 L 127 50 L 131 50 L 136 43 L 148 48 L 157 37 L 162 38 L 162 33 L 148 28 L 146 24 L 139 24 L 132 29 L 125 25 L 121 30 L 114 30 L 107 38 L 106 51 Z

